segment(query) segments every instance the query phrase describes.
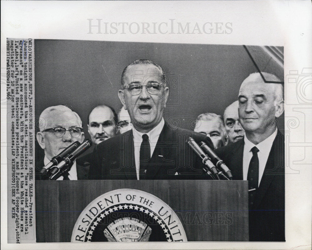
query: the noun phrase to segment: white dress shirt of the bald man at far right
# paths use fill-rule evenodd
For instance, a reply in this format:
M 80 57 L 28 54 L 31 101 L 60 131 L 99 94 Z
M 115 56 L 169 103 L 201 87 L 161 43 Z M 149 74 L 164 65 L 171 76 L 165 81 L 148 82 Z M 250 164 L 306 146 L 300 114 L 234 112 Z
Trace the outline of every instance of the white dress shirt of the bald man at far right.
M 246 134 L 244 136 L 244 153 L 243 153 L 243 179 L 247 180 L 249 163 L 252 157 L 251 149 L 256 146 L 259 150 L 258 159 L 259 159 L 259 180 L 258 187 L 260 186 L 260 181 L 266 167 L 266 162 L 268 160 L 273 141 L 276 137 L 277 129 L 274 131 L 272 135 L 270 135 L 265 140 L 261 141 L 257 145 L 253 144 L 250 140 L 247 139 Z

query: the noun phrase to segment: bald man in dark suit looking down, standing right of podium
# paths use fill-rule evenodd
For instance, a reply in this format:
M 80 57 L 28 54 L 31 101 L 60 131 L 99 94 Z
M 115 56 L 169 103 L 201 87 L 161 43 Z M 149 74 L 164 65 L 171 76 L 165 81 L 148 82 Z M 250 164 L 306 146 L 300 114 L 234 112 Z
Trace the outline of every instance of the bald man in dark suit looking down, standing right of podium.
M 262 76 L 251 74 L 239 90 L 244 138 L 216 153 L 233 179 L 248 180 L 249 240 L 285 241 L 284 135 L 275 120 L 284 111 L 283 86 L 272 74 Z

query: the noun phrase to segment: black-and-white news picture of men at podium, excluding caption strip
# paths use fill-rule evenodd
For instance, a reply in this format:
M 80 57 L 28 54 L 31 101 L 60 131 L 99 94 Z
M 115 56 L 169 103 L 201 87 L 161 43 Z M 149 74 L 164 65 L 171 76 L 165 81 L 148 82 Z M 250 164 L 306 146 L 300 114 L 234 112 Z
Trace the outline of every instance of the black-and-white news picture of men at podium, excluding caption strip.
M 96 190 L 106 193 L 115 185 L 160 192 L 158 197 L 179 211 L 187 230 L 183 240 L 285 240 L 283 47 L 61 40 L 34 44 L 37 242 L 70 241 L 80 213 L 66 208 L 82 211 L 98 196 Z M 87 95 L 83 86 L 90 86 Z M 256 145 L 262 156 L 251 150 Z M 61 159 L 68 147 L 69 156 Z M 76 157 L 79 150 L 82 156 Z M 253 176 L 249 169 L 254 164 Z M 256 183 L 245 190 L 246 182 L 237 181 L 249 178 Z M 63 186 L 52 181 L 66 179 L 84 182 Z M 218 180 L 221 184 L 214 184 Z M 214 185 L 222 188 L 213 191 Z M 52 212 L 58 209 L 62 212 Z M 92 215 L 93 210 L 88 215 L 92 220 L 78 225 L 88 231 L 83 241 L 107 241 L 104 231 L 115 220 L 100 217 L 100 211 Z M 156 210 L 160 216 L 162 211 Z M 115 218 L 124 220 L 131 213 L 135 210 L 124 207 Z M 165 218 L 163 223 L 170 225 L 170 217 Z M 139 222 L 157 225 L 143 218 Z M 93 234 L 100 225 L 101 233 Z M 57 227 L 62 230 L 55 231 Z M 130 234 L 122 241 L 140 241 Z M 152 241 L 174 240 L 157 235 L 151 230 Z M 116 235 L 110 237 L 117 241 Z

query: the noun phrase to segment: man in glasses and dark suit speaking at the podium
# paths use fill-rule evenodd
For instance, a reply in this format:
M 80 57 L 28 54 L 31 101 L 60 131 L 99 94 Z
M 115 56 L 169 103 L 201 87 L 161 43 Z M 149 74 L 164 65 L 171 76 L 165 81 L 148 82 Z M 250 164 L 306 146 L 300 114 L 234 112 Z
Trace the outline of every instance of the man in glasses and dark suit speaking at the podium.
M 209 179 L 186 140 L 192 136 L 213 149 L 211 140 L 163 119 L 169 88 L 162 67 L 136 60 L 125 67 L 121 84 L 118 96 L 133 127 L 97 145 L 89 179 Z

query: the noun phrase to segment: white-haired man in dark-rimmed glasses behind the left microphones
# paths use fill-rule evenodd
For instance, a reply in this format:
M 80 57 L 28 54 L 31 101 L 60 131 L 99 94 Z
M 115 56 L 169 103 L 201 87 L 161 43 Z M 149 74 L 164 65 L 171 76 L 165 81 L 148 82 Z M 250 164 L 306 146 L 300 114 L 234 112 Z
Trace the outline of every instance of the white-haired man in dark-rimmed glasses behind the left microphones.
M 64 105 L 51 106 L 43 110 L 39 117 L 39 129 L 36 138 L 44 150 L 44 158 L 36 163 L 35 179 L 45 180 L 47 177 L 41 174 L 40 170 L 73 142 L 81 143 L 85 135 L 82 132 L 79 115 Z M 64 173 L 57 180 L 87 179 L 88 171 L 88 168 L 74 162 L 68 173 Z

